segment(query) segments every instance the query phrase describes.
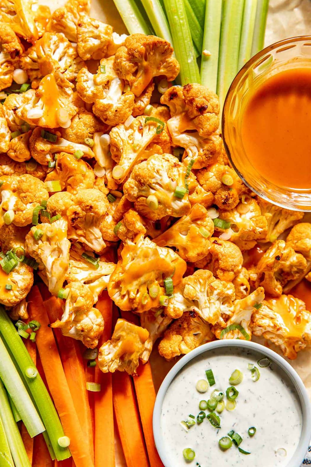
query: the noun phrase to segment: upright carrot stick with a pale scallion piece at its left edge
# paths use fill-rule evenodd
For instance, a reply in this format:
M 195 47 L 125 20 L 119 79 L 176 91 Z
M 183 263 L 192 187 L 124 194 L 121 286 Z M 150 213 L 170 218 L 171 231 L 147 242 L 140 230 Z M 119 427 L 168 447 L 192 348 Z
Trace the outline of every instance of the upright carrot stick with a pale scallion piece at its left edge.
M 97 309 L 104 318 L 104 333 L 99 344 L 111 338 L 112 300 L 107 291 L 104 291 L 96 304 Z M 94 393 L 95 412 L 95 467 L 103 465 L 103 453 L 105 453 L 105 467 L 114 467 L 114 427 L 113 427 L 113 403 L 112 403 L 112 377 L 111 373 L 102 373 L 95 367 L 95 382 L 100 383 L 101 391 Z M 105 432 L 105 436 L 102 432 Z

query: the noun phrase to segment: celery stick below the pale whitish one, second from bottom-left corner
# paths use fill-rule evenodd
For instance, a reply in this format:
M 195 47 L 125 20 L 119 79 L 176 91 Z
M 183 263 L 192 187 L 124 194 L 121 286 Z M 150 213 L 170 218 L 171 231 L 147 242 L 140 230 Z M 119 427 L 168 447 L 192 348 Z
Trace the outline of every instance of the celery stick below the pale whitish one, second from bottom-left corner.
M 10 403 L 2 381 L 0 380 L 0 417 L 7 435 L 7 442 L 14 459 L 15 467 L 31 467 L 21 434 L 15 423 Z M 1 459 L 1 467 L 2 467 Z M 5 464 L 3 464 L 5 465 Z M 10 465 L 10 464 L 8 464 Z

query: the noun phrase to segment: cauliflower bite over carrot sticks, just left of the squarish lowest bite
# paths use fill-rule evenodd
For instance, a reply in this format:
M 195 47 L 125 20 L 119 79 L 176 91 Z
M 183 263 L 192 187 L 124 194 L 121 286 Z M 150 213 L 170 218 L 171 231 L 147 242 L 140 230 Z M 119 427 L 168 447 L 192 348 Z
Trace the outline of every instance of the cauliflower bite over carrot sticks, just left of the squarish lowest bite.
M 62 319 L 51 324 L 59 328 L 64 336 L 81 340 L 89 348 L 95 348 L 104 331 L 104 319 L 100 311 L 93 307 L 94 297 L 87 285 L 71 282 L 66 285 L 68 297 Z

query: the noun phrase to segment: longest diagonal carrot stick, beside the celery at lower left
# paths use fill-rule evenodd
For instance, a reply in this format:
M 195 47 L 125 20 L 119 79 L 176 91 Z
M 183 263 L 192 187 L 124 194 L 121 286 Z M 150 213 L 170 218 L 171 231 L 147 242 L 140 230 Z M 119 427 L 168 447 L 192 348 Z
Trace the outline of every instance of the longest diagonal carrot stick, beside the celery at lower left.
M 36 319 L 41 323 L 41 328 L 36 336 L 37 348 L 48 382 L 48 388 L 60 416 L 64 432 L 70 438 L 70 452 L 76 465 L 79 467 L 91 467 L 94 463 L 90 456 L 89 443 L 85 441 L 75 404 L 62 368 L 53 331 L 48 327 L 48 315 L 36 286 L 32 288 L 28 298 L 28 309 L 31 319 Z M 77 410 L 80 410 L 79 406 L 77 406 Z

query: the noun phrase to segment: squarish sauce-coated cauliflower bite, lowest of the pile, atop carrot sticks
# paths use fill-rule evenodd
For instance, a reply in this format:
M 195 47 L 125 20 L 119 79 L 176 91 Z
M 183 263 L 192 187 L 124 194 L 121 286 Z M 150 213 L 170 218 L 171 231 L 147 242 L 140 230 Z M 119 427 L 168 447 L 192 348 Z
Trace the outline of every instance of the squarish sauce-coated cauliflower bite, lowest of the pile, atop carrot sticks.
M 116 370 L 136 375 L 139 358 L 144 352 L 148 331 L 125 319 L 118 319 L 111 340 L 107 340 L 98 352 L 98 366 L 103 373 Z

